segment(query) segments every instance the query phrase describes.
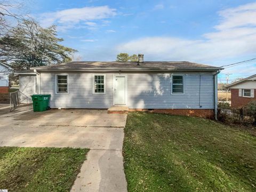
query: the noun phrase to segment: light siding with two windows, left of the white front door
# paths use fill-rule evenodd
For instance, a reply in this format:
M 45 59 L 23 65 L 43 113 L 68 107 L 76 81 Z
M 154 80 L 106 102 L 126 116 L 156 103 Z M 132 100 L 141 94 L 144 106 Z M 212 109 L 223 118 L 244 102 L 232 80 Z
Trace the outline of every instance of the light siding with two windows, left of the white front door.
M 42 73 L 41 94 L 51 94 L 52 108 L 104 109 L 113 105 L 113 74 L 106 74 L 105 94 L 93 94 L 92 73 L 68 73 L 68 93 L 56 93 L 55 87 L 55 73 Z

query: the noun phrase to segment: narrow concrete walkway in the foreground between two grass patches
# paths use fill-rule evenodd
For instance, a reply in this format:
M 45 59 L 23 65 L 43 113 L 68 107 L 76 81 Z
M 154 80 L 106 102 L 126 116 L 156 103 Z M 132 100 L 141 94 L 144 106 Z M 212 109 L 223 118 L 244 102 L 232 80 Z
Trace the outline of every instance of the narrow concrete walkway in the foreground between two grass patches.
M 122 150 L 90 150 L 71 191 L 127 191 Z

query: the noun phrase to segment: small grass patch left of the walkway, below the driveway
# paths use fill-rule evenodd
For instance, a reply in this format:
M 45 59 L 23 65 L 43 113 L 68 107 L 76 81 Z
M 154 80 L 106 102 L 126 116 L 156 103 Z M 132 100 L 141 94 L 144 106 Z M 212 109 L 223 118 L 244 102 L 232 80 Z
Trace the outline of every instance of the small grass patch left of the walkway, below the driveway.
M 70 191 L 89 149 L 0 147 L 0 189 Z

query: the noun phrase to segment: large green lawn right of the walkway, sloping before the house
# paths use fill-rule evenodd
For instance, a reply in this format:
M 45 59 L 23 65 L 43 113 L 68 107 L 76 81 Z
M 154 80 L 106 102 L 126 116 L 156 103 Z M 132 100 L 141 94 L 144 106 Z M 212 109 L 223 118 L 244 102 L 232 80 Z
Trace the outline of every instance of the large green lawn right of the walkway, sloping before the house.
M 129 113 L 129 191 L 256 191 L 256 137 L 209 119 Z

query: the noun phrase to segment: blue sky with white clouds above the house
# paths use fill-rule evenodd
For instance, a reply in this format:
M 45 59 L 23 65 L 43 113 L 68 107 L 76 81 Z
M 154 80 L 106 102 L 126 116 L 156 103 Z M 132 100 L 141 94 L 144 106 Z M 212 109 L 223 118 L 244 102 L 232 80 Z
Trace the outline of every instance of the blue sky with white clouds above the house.
M 30 1 L 43 27 L 57 25 L 63 45 L 83 61 L 113 61 L 120 52 L 145 61 L 223 66 L 256 58 L 256 1 Z M 255 74 L 256 60 L 221 71 L 219 81 Z

